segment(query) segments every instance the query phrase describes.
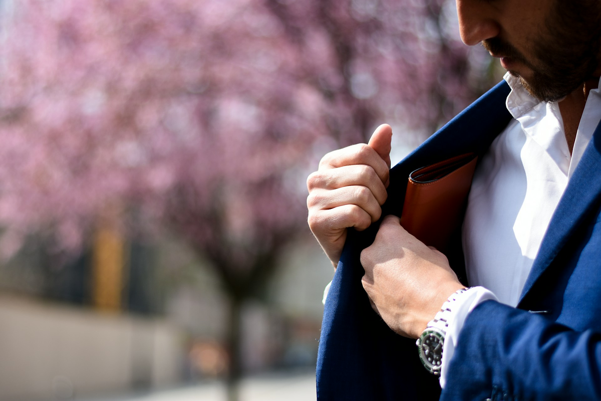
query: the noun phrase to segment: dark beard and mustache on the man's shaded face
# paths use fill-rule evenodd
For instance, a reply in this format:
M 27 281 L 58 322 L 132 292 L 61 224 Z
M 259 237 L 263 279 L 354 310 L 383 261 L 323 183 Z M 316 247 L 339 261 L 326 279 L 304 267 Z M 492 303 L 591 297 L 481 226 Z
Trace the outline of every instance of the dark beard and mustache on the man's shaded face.
M 558 0 L 545 28 L 547 32 L 532 41 L 531 57 L 498 37 L 482 44 L 492 54 L 519 61 L 531 70 L 527 81 L 515 71 L 509 73 L 538 100 L 555 102 L 580 87 L 599 67 L 601 2 Z

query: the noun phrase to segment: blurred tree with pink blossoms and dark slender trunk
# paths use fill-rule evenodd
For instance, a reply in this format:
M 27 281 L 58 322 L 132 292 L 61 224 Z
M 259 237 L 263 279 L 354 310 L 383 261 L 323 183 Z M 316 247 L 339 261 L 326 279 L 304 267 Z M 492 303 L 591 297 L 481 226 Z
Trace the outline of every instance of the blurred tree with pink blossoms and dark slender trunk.
M 235 379 L 240 305 L 306 230 L 308 169 L 384 119 L 432 130 L 486 87 L 446 3 L 13 2 L 0 49 L 2 249 L 51 230 L 77 250 L 115 209 L 137 216 L 126 230 L 168 227 L 230 299 Z

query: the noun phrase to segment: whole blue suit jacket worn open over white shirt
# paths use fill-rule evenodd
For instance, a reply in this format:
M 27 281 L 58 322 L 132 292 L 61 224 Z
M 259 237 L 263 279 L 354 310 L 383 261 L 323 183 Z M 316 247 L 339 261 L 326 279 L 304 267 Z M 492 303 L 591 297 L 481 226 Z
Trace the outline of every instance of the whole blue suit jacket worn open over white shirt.
M 391 170 L 383 215 L 399 215 L 410 171 L 483 154 L 507 126 L 509 93 L 496 85 Z M 392 332 L 361 285 L 361 250 L 378 224 L 350 230 L 326 300 L 317 360 L 325 400 L 601 399 L 601 124 L 543 239 L 517 308 L 478 305 L 461 332 L 447 385 L 421 366 L 415 340 Z M 460 239 L 451 267 L 465 283 Z M 542 311 L 542 312 L 541 312 Z

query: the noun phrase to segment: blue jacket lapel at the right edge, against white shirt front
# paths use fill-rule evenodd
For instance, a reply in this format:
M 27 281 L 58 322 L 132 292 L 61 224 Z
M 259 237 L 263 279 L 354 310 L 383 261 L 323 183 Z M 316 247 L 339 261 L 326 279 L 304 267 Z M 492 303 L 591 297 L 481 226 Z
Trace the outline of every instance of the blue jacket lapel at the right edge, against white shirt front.
M 540 275 L 553 262 L 576 228 L 587 221 L 587 215 L 598 206 L 601 195 L 601 122 L 593 133 L 582 159 L 570 179 L 566 192 L 551 218 L 537 257 L 532 264 L 520 302 L 532 289 Z

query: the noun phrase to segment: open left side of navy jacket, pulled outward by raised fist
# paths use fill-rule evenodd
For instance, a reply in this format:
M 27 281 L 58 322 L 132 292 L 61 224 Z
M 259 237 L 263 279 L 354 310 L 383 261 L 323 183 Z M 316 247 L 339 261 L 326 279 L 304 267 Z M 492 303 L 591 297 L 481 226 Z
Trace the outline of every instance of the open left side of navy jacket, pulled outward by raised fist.
M 462 153 L 481 154 L 507 126 L 510 89 L 496 85 L 442 127 L 391 170 L 383 216 L 399 215 L 409 173 Z M 396 135 L 400 135 L 396 133 Z M 379 224 L 349 231 L 326 300 L 317 360 L 317 398 L 325 400 L 437 400 L 438 379 L 419 362 L 415 340 L 401 337 L 371 310 L 361 286 L 359 255 L 375 237 Z M 457 275 L 465 277 L 460 246 L 449 255 Z

